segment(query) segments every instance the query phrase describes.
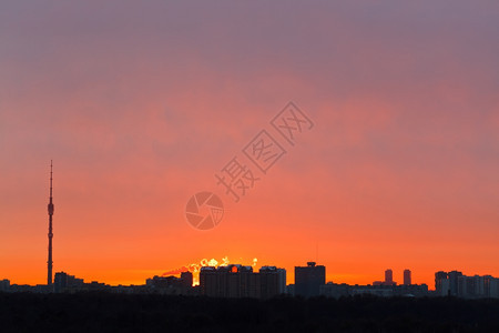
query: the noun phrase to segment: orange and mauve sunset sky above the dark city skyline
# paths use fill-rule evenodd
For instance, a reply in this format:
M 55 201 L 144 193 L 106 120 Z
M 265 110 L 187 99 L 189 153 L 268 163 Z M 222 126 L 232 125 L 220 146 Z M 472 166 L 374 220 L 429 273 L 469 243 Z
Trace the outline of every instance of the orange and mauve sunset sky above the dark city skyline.
M 289 101 L 314 128 L 235 203 L 215 173 Z M 53 270 L 88 282 L 499 276 L 499 2 L 1 1 L 0 280 L 47 282 L 51 159 Z

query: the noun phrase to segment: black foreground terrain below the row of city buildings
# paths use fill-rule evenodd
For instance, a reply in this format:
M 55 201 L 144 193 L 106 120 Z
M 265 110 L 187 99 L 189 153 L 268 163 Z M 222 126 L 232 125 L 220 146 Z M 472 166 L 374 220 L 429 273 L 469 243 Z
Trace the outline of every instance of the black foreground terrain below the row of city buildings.
M 499 332 L 499 300 L 1 294 L 0 332 Z

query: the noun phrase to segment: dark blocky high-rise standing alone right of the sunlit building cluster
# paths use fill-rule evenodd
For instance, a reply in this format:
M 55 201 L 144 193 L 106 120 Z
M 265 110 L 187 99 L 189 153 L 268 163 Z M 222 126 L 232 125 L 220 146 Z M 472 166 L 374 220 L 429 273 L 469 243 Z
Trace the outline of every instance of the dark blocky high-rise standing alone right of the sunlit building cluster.
M 295 295 L 305 297 L 319 295 L 320 285 L 326 284 L 326 268 L 307 262 L 306 266 L 295 268 Z

